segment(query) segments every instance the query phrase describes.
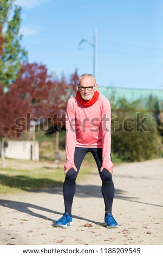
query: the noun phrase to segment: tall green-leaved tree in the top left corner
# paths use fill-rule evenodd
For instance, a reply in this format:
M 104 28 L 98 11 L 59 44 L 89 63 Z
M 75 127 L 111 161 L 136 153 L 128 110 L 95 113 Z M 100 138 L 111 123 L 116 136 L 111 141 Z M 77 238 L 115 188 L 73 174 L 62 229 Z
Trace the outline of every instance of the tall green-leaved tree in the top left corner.
M 21 47 L 22 35 L 19 35 L 21 8 L 13 0 L 1 0 L 0 26 L 4 39 L 0 58 L 0 82 L 9 87 L 17 78 L 21 63 L 27 52 Z

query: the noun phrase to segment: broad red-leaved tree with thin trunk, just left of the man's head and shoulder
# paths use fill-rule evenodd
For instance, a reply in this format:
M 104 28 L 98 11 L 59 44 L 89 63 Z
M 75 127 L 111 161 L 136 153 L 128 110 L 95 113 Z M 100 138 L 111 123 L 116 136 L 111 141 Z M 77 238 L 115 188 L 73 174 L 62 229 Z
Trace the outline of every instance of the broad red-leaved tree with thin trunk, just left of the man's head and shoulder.
M 67 101 L 70 95 L 76 92 L 77 80 L 77 70 L 69 79 L 62 75 L 59 80 L 48 75 L 44 65 L 24 62 L 14 87 L 17 95 L 29 102 L 30 120 L 38 121 L 38 124 L 47 121 L 50 129 L 53 129 L 65 125 L 64 113 Z M 56 151 L 58 151 L 58 130 L 55 129 L 55 132 L 57 132 Z

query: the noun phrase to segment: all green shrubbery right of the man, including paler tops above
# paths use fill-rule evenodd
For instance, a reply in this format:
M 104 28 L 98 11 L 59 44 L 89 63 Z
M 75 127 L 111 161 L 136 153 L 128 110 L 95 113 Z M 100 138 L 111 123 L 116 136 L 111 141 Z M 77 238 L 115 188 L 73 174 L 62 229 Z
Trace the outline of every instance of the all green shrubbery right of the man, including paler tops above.
M 125 97 L 116 100 L 114 93 L 110 103 L 112 153 L 123 161 L 142 161 L 161 157 L 163 155 L 161 101 L 149 95 L 145 99 L 130 103 Z

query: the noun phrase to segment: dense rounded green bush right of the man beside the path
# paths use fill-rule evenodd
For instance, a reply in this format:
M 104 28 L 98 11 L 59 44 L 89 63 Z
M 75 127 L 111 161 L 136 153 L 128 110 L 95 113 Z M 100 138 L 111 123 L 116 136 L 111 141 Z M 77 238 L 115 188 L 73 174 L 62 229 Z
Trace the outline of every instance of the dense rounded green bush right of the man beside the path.
M 128 162 L 160 156 L 161 137 L 152 114 L 116 111 L 112 118 L 112 152 Z

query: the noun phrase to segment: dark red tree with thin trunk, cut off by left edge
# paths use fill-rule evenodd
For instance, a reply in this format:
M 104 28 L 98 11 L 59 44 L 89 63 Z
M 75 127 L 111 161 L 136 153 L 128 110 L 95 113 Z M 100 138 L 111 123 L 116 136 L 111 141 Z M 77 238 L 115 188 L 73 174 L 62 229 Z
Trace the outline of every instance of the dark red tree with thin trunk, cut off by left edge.
M 5 168 L 4 142 L 6 138 L 17 138 L 21 133 L 16 132 L 16 119 L 25 118 L 28 102 L 17 96 L 15 88 L 10 86 L 9 91 L 4 93 L 4 86 L 0 84 L 0 137 L 2 168 Z M 20 107 L 21 106 L 21 107 Z M 28 124 L 27 124 L 28 125 Z

